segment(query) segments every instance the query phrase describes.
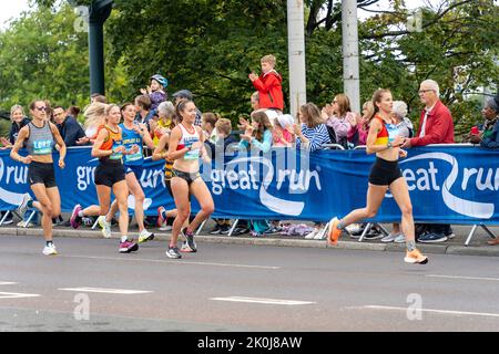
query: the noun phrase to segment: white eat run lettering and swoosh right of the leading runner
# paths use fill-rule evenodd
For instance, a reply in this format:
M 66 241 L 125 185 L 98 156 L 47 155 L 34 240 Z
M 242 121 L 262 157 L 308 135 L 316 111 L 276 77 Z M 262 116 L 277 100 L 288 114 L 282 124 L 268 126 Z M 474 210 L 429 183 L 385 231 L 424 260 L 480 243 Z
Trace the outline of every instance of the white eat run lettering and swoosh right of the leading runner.
M 410 168 L 404 170 L 404 177 L 407 180 L 409 191 L 416 189 L 419 191 L 441 191 L 444 204 L 452 211 L 478 219 L 490 219 L 493 216 L 495 205 L 492 202 L 478 202 L 464 199 L 452 195 L 450 190 L 455 185 L 459 188 L 459 185 L 457 185 L 456 181 L 458 180 L 458 177 L 460 177 L 462 178 L 460 188 L 464 191 L 471 189 L 482 191 L 489 189 L 497 192 L 499 190 L 499 168 L 496 168 L 496 170 L 493 170 L 493 168 L 486 169 L 482 167 L 464 168 L 460 171 L 457 159 L 445 153 L 417 155 L 400 162 L 400 165 L 418 160 L 427 160 L 427 167 L 417 170 Z M 451 166 L 451 170 L 441 186 L 439 186 L 437 181 L 439 170 L 432 160 L 442 160 Z M 485 180 L 483 176 L 486 176 Z

